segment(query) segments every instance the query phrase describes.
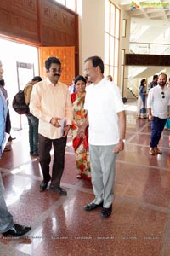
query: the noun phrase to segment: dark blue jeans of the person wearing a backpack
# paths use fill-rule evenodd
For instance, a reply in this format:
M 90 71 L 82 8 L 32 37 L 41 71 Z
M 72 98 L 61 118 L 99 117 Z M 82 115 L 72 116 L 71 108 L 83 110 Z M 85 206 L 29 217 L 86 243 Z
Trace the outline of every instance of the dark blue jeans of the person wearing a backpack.
M 28 113 L 27 115 L 28 125 L 29 125 L 29 143 L 30 143 L 30 153 L 38 153 L 38 123 L 39 119 Z

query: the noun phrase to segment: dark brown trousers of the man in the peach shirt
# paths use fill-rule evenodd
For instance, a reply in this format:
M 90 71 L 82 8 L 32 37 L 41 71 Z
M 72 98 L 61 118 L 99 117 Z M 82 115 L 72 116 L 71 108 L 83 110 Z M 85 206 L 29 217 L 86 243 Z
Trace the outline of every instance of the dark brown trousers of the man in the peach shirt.
M 39 157 L 42 168 L 43 180 L 45 183 L 51 178 L 51 185 L 59 189 L 60 180 L 65 168 L 65 146 L 67 137 L 59 139 L 49 139 L 39 134 Z M 50 150 L 54 146 L 54 162 L 52 167 L 52 177 L 49 174 L 49 164 L 51 161 Z

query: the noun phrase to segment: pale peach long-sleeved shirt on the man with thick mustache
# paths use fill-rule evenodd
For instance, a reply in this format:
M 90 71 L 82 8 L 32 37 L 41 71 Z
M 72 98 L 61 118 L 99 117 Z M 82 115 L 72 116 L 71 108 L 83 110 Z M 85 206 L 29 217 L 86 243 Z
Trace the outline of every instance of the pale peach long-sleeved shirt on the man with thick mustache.
M 65 118 L 66 124 L 71 125 L 73 111 L 68 86 L 61 82 L 54 86 L 48 78 L 35 84 L 31 92 L 30 111 L 39 119 L 38 132 L 42 136 L 59 138 L 60 129 L 51 125 L 50 120 L 53 117 Z

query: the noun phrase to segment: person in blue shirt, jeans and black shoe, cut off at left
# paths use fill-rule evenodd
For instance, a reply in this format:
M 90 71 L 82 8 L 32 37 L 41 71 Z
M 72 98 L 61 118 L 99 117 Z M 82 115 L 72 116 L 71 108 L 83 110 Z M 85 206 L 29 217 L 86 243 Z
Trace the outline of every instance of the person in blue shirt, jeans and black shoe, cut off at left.
M 8 107 L 2 91 L 0 90 L 0 158 L 3 154 L 3 138 Z M 14 224 L 13 216 L 8 212 L 8 207 L 3 196 L 3 180 L 0 172 L 0 233 L 3 236 L 23 236 L 31 230 L 31 227 Z

